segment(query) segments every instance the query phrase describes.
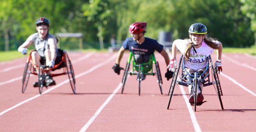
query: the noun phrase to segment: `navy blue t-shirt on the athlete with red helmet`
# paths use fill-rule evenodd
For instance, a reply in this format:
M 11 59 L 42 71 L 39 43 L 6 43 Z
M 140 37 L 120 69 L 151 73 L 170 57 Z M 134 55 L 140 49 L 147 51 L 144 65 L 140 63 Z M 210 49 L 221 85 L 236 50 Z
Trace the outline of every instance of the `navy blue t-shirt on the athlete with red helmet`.
M 156 40 L 145 37 L 145 41 L 142 44 L 133 40 L 133 37 L 126 38 L 123 42 L 123 48 L 130 50 L 133 54 L 138 55 L 152 55 L 154 50 L 162 52 L 163 47 Z

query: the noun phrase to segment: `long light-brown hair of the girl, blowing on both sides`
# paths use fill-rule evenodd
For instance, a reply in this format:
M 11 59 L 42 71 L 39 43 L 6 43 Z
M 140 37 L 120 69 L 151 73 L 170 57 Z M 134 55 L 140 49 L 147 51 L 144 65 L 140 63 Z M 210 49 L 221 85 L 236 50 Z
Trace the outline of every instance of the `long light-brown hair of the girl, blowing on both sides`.
M 190 58 L 190 51 L 192 49 L 192 45 L 193 45 L 193 42 L 192 41 L 189 41 L 189 39 L 185 39 L 187 40 L 187 48 L 185 49 L 185 59 L 188 60 Z M 217 39 L 215 38 L 211 38 L 211 37 L 208 37 L 207 35 L 205 35 L 204 37 L 204 42 L 211 48 L 213 49 L 218 49 L 219 48 L 219 44 L 216 44 L 214 43 L 213 41 L 217 41 Z

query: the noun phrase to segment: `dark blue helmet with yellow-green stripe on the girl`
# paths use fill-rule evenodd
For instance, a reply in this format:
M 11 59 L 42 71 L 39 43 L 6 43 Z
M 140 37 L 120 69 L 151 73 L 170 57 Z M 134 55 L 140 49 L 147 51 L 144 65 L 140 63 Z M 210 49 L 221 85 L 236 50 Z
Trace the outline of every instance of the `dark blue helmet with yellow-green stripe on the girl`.
M 205 35 L 207 33 L 207 28 L 204 24 L 194 23 L 190 26 L 188 33 Z

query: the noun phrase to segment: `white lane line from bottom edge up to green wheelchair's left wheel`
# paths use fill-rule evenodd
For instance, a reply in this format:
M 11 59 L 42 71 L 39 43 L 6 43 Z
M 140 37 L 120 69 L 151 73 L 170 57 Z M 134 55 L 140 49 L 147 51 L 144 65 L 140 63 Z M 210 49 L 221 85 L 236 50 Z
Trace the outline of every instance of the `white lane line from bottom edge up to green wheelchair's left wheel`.
M 128 76 L 129 77 L 129 76 Z M 113 93 L 105 100 L 105 102 L 100 106 L 100 108 L 95 112 L 95 114 L 90 118 L 90 120 L 81 128 L 79 132 L 85 132 L 88 127 L 92 124 L 92 122 L 97 118 L 100 112 L 104 109 L 104 107 L 109 103 L 109 101 L 116 95 L 117 91 L 121 88 L 122 83 L 120 82 Z

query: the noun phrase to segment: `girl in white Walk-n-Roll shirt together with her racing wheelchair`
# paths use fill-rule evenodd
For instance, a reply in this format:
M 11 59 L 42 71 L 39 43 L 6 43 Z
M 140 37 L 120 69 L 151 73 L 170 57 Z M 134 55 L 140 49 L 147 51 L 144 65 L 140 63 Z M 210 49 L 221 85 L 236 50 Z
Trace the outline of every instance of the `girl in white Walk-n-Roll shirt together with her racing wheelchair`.
M 170 61 L 170 64 L 167 67 L 169 68 L 170 71 L 174 72 L 175 77 L 173 77 L 174 78 L 173 80 L 175 81 L 172 81 L 172 84 L 170 87 L 170 91 L 173 91 L 175 83 L 177 83 L 176 82 L 176 79 L 178 76 L 177 74 L 179 72 L 179 68 L 181 67 L 181 63 L 182 63 L 183 65 L 182 69 L 184 74 L 182 75 L 183 77 L 182 80 L 187 80 L 189 83 L 179 82 L 178 84 L 186 84 L 189 87 L 189 89 L 192 89 L 190 93 L 190 98 L 189 98 L 189 102 L 191 105 L 201 105 L 203 103 L 203 100 L 204 100 L 204 96 L 202 94 L 203 86 L 204 86 L 203 83 L 205 82 L 206 77 L 209 77 L 209 71 L 208 71 L 209 68 L 213 68 L 214 78 L 218 77 L 218 74 L 215 74 L 217 73 L 217 71 L 219 72 L 222 71 L 222 67 L 221 67 L 222 43 L 220 43 L 219 41 L 216 41 L 216 39 L 208 38 L 206 36 L 206 33 L 207 33 L 207 28 L 205 25 L 201 23 L 192 24 L 189 28 L 190 39 L 185 39 L 185 40 L 178 39 L 173 42 L 172 59 Z M 176 64 L 177 64 L 176 53 L 178 49 L 180 50 L 183 56 L 180 59 L 178 68 L 176 68 Z M 213 66 L 209 67 L 209 58 L 211 61 L 210 55 L 214 51 L 214 49 L 217 50 L 217 60 L 215 62 L 215 67 Z M 198 84 L 195 84 L 197 83 L 197 81 L 194 82 L 195 79 L 199 79 L 201 82 L 199 81 Z M 217 79 L 216 83 L 218 82 L 219 81 Z M 197 91 L 194 91 L 195 87 L 198 88 L 196 89 Z M 221 90 L 220 85 L 217 87 L 219 87 L 217 88 L 218 90 Z M 218 93 L 222 94 L 221 92 L 218 92 Z M 168 102 L 168 107 L 170 105 L 170 101 L 171 101 L 171 97 Z M 222 102 L 221 102 L 221 105 L 222 105 Z

